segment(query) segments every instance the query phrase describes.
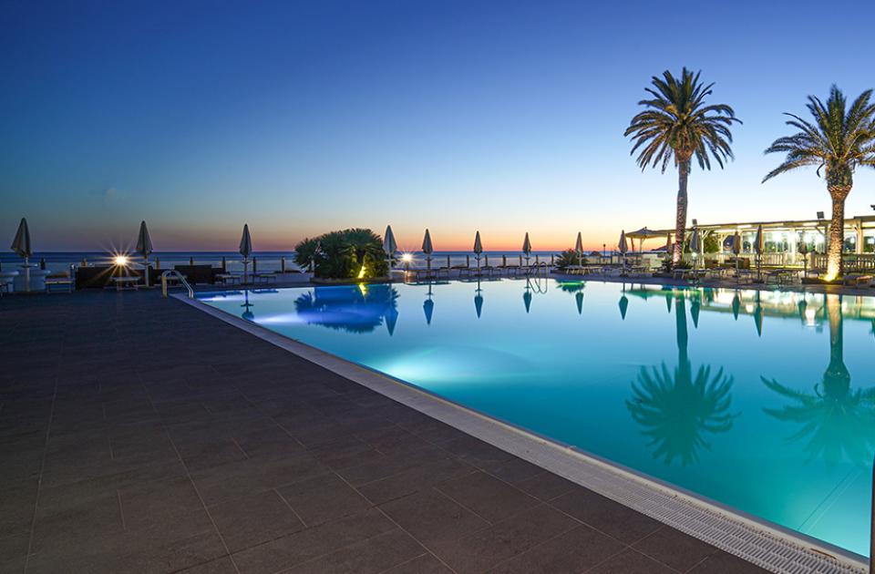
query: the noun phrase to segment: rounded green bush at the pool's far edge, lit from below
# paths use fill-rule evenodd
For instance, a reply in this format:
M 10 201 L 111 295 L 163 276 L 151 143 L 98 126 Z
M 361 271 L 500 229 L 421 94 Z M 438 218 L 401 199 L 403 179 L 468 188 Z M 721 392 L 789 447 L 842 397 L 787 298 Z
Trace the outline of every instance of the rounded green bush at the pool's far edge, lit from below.
M 383 240 L 371 230 L 331 231 L 301 241 L 294 251 L 294 261 L 320 279 L 373 279 L 389 272 Z

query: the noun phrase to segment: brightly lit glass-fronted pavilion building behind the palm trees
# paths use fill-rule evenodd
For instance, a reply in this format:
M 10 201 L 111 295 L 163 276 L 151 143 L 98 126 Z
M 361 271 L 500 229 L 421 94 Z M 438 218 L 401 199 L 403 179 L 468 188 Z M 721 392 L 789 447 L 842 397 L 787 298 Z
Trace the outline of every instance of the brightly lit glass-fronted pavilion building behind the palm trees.
M 798 254 L 799 245 L 806 243 L 812 253 L 826 253 L 829 238 L 829 220 L 787 220 L 787 221 L 751 221 L 749 223 L 717 223 L 699 224 L 703 232 L 714 232 L 717 244 L 723 253 L 732 252 L 731 238 L 736 231 L 741 235 L 742 251 L 747 254 L 754 252 L 754 238 L 757 227 L 763 226 L 766 243 L 766 253 L 769 263 L 797 263 L 801 261 Z M 655 237 L 673 235 L 674 230 L 653 231 Z M 664 243 L 664 241 L 663 241 Z M 846 253 L 872 254 L 875 257 L 875 215 L 859 215 L 845 219 Z

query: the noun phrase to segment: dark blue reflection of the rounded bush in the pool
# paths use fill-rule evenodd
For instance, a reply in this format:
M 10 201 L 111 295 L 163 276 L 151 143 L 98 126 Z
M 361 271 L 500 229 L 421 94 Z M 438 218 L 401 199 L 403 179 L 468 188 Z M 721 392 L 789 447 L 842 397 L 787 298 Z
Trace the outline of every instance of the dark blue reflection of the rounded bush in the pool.
M 398 293 L 391 285 L 314 287 L 294 301 L 299 317 L 347 333 L 370 333 L 386 324 L 389 334 L 398 319 Z

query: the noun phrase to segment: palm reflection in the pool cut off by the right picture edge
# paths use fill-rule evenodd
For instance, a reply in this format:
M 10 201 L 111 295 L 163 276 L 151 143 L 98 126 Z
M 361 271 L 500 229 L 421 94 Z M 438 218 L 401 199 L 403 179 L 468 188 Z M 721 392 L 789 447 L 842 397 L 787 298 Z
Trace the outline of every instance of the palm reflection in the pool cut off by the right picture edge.
M 813 393 L 804 393 L 761 377 L 778 395 L 792 400 L 781 409 L 764 408 L 779 421 L 801 425 L 787 440 L 807 440 L 808 460 L 823 458 L 869 466 L 875 447 L 875 387 L 853 390 L 844 362 L 841 295 L 826 295 L 829 321 L 829 365 Z

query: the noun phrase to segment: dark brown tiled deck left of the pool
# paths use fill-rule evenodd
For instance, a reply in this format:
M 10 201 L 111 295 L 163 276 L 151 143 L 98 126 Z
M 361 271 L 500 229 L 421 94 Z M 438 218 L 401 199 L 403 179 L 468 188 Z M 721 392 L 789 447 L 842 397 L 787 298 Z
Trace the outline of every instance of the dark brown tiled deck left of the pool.
M 760 571 L 157 292 L 0 325 L 3 572 Z

